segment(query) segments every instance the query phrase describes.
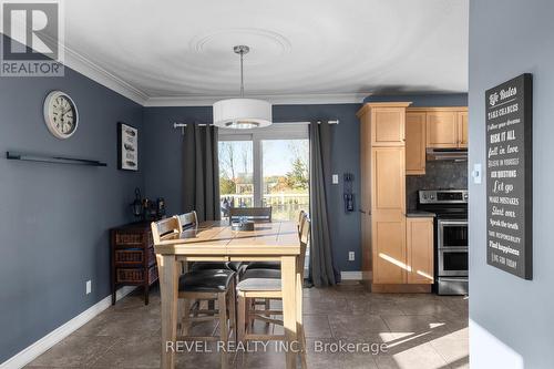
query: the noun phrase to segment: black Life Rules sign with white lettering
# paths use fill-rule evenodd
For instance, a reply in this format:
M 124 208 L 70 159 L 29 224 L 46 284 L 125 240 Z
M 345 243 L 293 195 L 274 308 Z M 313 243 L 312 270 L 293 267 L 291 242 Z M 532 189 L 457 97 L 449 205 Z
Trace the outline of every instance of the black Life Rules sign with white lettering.
M 486 263 L 533 277 L 532 75 L 485 93 Z

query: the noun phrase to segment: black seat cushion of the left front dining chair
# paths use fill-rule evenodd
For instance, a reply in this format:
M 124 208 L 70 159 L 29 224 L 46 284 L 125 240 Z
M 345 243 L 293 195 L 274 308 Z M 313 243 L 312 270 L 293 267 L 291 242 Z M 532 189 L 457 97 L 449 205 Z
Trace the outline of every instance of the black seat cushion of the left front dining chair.
M 178 278 L 183 293 L 220 293 L 229 288 L 235 273 L 227 269 L 206 269 L 185 273 Z

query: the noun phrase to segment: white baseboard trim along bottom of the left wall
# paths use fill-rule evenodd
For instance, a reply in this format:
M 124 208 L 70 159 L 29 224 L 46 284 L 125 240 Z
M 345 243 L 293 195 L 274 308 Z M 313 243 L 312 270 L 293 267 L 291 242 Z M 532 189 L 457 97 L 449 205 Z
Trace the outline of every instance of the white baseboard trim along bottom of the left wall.
M 120 300 L 123 297 L 132 293 L 136 287 L 126 286 L 117 290 L 116 299 Z M 22 349 L 4 362 L 0 365 L 0 369 L 14 369 L 23 368 L 25 365 L 38 358 L 40 355 L 44 353 L 52 346 L 78 330 L 84 324 L 90 321 L 92 318 L 98 316 L 100 312 L 104 311 L 112 305 L 112 295 L 103 298 L 99 303 L 94 304 L 73 319 L 52 330 L 47 336 L 42 337 L 31 346 Z

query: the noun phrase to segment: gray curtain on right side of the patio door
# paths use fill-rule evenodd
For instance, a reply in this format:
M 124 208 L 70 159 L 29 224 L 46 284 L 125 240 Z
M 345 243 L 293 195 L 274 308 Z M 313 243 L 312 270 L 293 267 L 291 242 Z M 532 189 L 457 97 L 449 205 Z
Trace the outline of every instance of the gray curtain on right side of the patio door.
M 332 286 L 340 281 L 334 266 L 331 232 L 328 215 L 328 194 L 331 178 L 332 125 L 310 124 L 310 276 L 316 287 Z

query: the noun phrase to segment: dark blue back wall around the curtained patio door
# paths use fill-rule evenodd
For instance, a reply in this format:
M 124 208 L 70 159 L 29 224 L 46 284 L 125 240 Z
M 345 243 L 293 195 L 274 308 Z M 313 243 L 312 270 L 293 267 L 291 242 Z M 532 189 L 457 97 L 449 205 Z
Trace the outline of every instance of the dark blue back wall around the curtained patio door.
M 353 173 L 353 191 L 360 194 L 360 143 L 359 122 L 356 112 L 360 104 L 328 105 L 275 105 L 275 122 L 312 120 L 340 120 L 335 127 L 332 173 L 339 174 L 340 184 L 331 186 L 329 194 L 334 255 L 340 270 L 360 270 L 360 217 L 357 212 L 345 214 L 342 204 L 342 174 Z M 195 107 L 145 107 L 144 132 L 148 140 L 143 164 L 146 168 L 146 192 L 151 197 L 164 196 L 170 213 L 181 212 L 182 136 L 174 130 L 175 121 L 194 123 L 212 122 L 211 106 Z M 357 198 L 359 201 L 359 197 Z M 356 253 L 356 260 L 348 262 L 348 252 Z

